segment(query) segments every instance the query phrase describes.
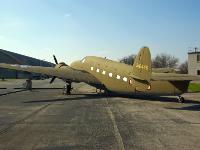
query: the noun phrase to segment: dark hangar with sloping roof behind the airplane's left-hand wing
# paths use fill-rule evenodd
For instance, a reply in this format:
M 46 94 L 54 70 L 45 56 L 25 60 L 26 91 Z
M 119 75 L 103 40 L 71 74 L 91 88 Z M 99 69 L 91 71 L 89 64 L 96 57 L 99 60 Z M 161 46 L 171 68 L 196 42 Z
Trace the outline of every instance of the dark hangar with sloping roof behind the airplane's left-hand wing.
M 53 63 L 0 49 L 0 63 L 53 67 Z M 38 78 L 40 74 L 0 68 L 0 78 Z

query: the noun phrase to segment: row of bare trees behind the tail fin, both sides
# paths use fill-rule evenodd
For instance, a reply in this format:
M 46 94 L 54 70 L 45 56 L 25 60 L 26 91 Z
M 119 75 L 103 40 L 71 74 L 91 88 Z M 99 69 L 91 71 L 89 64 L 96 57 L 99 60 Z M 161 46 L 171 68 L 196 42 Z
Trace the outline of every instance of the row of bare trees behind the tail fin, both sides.
M 132 55 L 120 58 L 119 62 L 128 64 L 128 65 L 133 65 L 135 58 L 136 58 L 136 55 L 132 54 Z M 179 65 L 178 58 L 171 56 L 169 54 L 161 53 L 161 54 L 157 54 L 152 59 L 152 68 L 173 68 L 173 69 L 178 69 L 180 73 L 187 74 L 188 62 L 185 61 Z

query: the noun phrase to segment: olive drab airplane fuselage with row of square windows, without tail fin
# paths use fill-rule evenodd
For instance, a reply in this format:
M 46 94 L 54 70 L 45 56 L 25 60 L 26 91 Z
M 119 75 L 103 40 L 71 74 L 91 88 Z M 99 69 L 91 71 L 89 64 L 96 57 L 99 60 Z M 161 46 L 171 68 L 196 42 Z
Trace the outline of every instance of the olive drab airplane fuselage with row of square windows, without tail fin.
M 116 61 L 88 56 L 71 64 L 74 69 L 93 75 L 97 81 L 90 78 L 86 83 L 95 83 L 96 87 L 105 86 L 107 90 L 123 94 L 156 94 L 180 95 L 187 91 L 189 81 L 150 81 L 148 88 L 138 89 L 138 83 L 130 77 L 133 67 Z M 99 85 L 101 84 L 101 85 Z M 91 84 L 95 86 L 95 84 Z

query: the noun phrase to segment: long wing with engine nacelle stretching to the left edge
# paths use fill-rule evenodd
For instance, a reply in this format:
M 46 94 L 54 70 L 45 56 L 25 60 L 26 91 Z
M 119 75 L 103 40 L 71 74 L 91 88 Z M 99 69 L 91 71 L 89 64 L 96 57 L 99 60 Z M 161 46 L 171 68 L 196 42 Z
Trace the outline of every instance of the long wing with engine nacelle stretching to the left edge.
M 33 72 L 33 73 L 41 73 L 41 74 L 46 74 L 50 76 L 56 76 L 58 78 L 62 78 L 62 79 L 73 81 L 73 82 L 90 81 L 90 82 L 98 83 L 97 79 L 94 78 L 91 74 L 85 71 L 73 69 L 70 66 L 62 66 L 60 68 L 53 68 L 53 67 L 0 63 L 0 68 L 6 68 L 6 69 L 18 70 L 18 71 L 27 71 L 27 72 Z

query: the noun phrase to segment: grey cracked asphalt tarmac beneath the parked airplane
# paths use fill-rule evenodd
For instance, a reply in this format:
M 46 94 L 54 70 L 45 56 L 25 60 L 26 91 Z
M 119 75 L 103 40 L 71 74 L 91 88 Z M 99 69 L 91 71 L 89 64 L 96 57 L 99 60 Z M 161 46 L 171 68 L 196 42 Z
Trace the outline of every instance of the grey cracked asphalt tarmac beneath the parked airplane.
M 83 83 L 69 96 L 61 89 L 0 90 L 7 92 L 0 96 L 0 150 L 200 149 L 200 93 L 185 94 L 181 104 L 173 97 L 96 94 Z

